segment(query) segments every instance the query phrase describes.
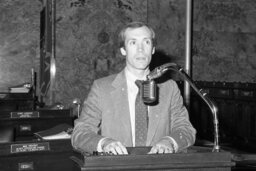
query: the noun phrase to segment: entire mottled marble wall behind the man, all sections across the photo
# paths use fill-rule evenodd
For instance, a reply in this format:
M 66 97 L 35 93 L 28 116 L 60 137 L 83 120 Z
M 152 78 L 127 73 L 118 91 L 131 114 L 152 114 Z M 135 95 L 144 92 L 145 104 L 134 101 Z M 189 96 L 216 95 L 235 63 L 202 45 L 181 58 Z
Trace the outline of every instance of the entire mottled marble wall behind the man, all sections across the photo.
M 41 2 L 0 1 L 0 88 L 39 68 Z M 256 82 L 256 1 L 194 0 L 192 77 L 198 81 Z M 117 32 L 130 21 L 148 22 L 158 35 L 155 65 L 184 66 L 186 0 L 56 0 L 54 102 L 83 100 L 94 79 L 125 62 Z M 47 101 L 47 99 L 46 99 Z

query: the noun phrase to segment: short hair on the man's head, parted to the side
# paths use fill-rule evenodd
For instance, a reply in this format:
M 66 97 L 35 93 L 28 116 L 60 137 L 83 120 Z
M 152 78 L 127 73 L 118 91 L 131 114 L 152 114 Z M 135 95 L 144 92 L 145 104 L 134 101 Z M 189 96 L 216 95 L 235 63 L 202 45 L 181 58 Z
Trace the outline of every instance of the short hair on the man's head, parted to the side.
M 128 23 L 127 25 L 125 25 L 119 35 L 118 35 L 118 43 L 119 43 L 119 48 L 121 47 L 124 47 L 124 43 L 125 43 L 125 32 L 128 28 L 140 28 L 140 27 L 147 27 L 150 32 L 151 32 L 151 38 L 152 38 L 152 43 L 153 43 L 153 46 L 156 46 L 156 38 L 155 38 L 155 31 L 153 30 L 152 27 L 150 27 L 149 25 L 143 23 L 143 22 L 131 22 L 131 23 Z

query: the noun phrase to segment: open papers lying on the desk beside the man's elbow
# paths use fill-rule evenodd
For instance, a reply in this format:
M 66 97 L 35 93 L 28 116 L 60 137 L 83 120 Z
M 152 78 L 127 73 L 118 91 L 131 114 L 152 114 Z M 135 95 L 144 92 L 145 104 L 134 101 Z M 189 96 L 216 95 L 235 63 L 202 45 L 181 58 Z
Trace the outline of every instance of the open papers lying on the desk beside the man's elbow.
M 34 133 L 43 140 L 70 139 L 73 129 L 68 124 L 60 124 L 47 130 Z

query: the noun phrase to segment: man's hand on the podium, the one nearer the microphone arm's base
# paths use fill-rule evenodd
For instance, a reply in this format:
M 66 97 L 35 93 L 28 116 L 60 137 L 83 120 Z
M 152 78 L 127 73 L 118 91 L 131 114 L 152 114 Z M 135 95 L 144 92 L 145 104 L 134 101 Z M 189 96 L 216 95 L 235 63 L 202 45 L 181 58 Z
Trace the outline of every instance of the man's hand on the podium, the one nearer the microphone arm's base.
M 162 138 L 149 152 L 149 154 L 154 153 L 175 153 L 172 141 L 168 137 Z

